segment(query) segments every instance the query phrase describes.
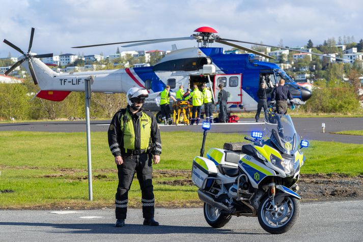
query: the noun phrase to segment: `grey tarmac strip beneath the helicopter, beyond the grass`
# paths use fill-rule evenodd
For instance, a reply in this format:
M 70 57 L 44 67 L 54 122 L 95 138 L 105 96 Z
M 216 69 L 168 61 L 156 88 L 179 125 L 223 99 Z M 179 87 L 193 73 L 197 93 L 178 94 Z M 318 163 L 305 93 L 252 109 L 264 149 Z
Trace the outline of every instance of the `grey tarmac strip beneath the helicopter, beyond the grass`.
M 215 124 L 209 132 L 241 133 L 248 135 L 252 130 L 263 130 L 264 123 L 254 123 L 254 119 L 243 118 L 243 122 L 235 124 Z M 363 118 L 293 118 L 294 126 L 300 136 L 307 140 L 336 141 L 343 143 L 363 144 L 361 136 L 337 135 L 330 132 L 343 130 L 362 130 Z M 325 123 L 325 133 L 322 133 L 321 124 Z M 86 123 L 83 122 L 35 122 L 0 124 L 0 131 L 45 131 L 45 132 L 85 132 Z M 91 122 L 91 131 L 107 132 L 109 121 Z M 164 126 L 160 125 L 162 132 L 188 130 L 202 132 L 201 126 Z

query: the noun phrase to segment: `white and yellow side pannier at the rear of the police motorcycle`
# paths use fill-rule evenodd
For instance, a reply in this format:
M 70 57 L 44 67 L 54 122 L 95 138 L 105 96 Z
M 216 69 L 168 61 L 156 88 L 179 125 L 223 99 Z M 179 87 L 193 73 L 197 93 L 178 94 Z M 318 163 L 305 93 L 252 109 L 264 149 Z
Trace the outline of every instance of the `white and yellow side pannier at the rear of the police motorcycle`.
M 205 182 L 206 178 L 215 176 L 217 172 L 217 167 L 213 161 L 197 156 L 193 160 L 191 180 L 193 181 L 194 185 L 204 189 L 207 184 L 207 182 Z

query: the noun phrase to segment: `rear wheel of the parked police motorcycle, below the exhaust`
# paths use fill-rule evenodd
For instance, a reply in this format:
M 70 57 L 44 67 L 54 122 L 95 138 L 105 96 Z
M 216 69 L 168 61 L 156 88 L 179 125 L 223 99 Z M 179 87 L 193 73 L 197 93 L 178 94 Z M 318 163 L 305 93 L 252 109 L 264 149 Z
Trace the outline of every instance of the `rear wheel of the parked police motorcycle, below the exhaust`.
M 228 215 L 222 212 L 221 209 L 214 207 L 208 203 L 204 203 L 204 218 L 207 223 L 213 228 L 221 228 L 225 226 L 232 218 L 232 215 Z

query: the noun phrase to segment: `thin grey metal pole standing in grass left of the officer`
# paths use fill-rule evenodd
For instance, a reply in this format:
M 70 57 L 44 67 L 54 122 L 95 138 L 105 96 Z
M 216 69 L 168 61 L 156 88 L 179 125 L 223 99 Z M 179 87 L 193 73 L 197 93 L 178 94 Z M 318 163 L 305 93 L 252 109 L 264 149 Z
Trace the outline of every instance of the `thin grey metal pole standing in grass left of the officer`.
M 85 101 L 86 101 L 86 125 L 87 125 L 87 163 L 88 163 L 88 196 L 92 195 L 92 165 L 91 165 L 91 129 L 90 129 L 90 100 L 91 100 L 91 78 L 85 78 Z

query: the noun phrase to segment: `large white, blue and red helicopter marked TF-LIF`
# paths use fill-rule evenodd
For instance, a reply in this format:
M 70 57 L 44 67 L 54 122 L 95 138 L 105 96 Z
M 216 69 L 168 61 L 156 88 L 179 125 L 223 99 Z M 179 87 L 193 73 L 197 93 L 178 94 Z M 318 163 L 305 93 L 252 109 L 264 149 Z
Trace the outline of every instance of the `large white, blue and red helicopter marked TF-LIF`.
M 196 34 L 189 37 L 72 47 L 87 48 L 115 44 L 126 44 L 122 45 L 122 47 L 132 47 L 180 40 L 194 40 L 198 43 L 198 47 L 175 49 L 166 54 L 159 63 L 150 67 L 76 73 L 57 73 L 41 62 L 39 58 L 52 57 L 53 54 L 35 54 L 31 52 L 34 32 L 35 29 L 32 28 L 27 52 L 4 39 L 4 43 L 22 54 L 19 61 L 7 70 L 5 75 L 22 65 L 31 74 L 34 83 L 40 87 L 36 97 L 51 101 L 62 101 L 71 92 L 85 92 L 85 79 L 88 78 L 92 80 L 92 92 L 127 93 L 127 90 L 134 86 L 146 88 L 149 97 L 146 99 L 145 108 L 158 112 L 157 119 L 159 119 L 161 113 L 155 99 L 166 85 L 171 87 L 171 94 L 175 95 L 180 85 L 192 87 L 194 84 L 201 86 L 206 83 L 212 91 L 213 103 L 215 104 L 219 92 L 218 85 L 222 84 L 229 93 L 227 102 L 229 113 L 257 110 L 257 90 L 262 82 L 266 83 L 267 88 L 273 88 L 280 79 L 285 79 L 285 85 L 288 86 L 295 105 L 305 104 L 306 100 L 312 95 L 309 89 L 299 86 L 283 69 L 274 63 L 260 61 L 259 56 L 273 57 L 231 42 L 269 46 L 301 53 L 308 52 L 221 38 L 216 35 L 217 32 L 214 28 L 208 26 L 195 29 Z M 214 42 L 244 50 L 248 53 L 225 54 L 223 48 L 211 47 Z M 329 57 L 323 54 L 311 54 Z M 173 105 L 173 102 L 170 105 Z

